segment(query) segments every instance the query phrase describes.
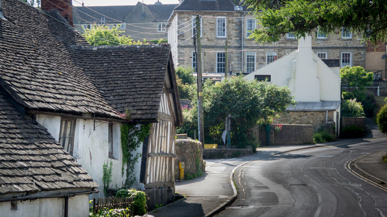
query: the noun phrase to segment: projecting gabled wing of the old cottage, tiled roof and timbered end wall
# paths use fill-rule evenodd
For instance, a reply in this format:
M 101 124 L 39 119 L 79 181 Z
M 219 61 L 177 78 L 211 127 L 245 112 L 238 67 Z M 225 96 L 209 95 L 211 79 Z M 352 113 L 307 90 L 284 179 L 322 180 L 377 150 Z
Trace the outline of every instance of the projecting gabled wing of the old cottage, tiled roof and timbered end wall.
M 137 188 L 175 189 L 176 127 L 183 122 L 169 45 L 74 46 L 79 65 L 92 78 L 105 99 L 131 122 L 151 123 L 150 133 L 136 150 Z M 125 60 L 125 61 L 123 61 Z M 88 67 L 98 63 L 98 67 Z M 87 67 L 86 67 L 87 66 Z

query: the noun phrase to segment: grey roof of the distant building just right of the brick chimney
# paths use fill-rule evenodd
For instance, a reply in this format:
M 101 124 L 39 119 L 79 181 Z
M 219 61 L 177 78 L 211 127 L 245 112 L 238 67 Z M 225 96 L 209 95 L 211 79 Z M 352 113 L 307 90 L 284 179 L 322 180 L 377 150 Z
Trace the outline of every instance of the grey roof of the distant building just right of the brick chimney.
M 72 13 L 81 23 L 101 23 L 101 17 L 105 17 L 107 23 L 118 23 L 124 22 L 125 17 L 134 7 L 135 5 L 79 6 L 73 7 Z

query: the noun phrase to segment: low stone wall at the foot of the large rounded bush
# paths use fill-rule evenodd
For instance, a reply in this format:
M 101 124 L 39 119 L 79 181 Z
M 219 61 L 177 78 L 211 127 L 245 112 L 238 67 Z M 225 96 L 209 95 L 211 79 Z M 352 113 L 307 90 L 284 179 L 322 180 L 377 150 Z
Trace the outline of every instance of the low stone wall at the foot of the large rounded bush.
M 253 149 L 248 146 L 246 149 L 203 149 L 204 159 L 222 159 L 222 158 L 237 158 L 244 155 L 252 155 Z

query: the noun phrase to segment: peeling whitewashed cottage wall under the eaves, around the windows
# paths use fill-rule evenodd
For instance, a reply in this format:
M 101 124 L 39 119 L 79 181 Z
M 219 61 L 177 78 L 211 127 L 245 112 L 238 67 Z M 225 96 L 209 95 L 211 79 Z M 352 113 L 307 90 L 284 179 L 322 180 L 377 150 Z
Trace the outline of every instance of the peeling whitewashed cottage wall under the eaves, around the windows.
M 59 141 L 61 127 L 60 116 L 38 115 L 37 121 L 46 127 L 54 138 Z M 108 126 L 109 124 L 107 122 L 96 121 L 94 128 L 94 120 L 80 118 L 76 120 L 73 157 L 99 185 L 98 189 L 100 190 L 98 194 L 90 195 L 90 199 L 104 197 L 104 184 L 102 181 L 104 163 L 108 163 L 108 165 L 110 165 L 110 162 L 113 163 L 113 175 L 110 188 L 120 188 L 125 184 L 126 180 L 126 166 L 124 167 L 124 175 L 122 175 L 121 124 L 113 124 L 113 157 L 115 159 L 109 158 Z M 142 152 L 142 143 L 133 155 L 137 152 Z M 144 184 L 139 182 L 140 167 L 141 158 L 135 163 L 134 173 L 136 174 L 136 181 L 132 187 L 144 189 Z

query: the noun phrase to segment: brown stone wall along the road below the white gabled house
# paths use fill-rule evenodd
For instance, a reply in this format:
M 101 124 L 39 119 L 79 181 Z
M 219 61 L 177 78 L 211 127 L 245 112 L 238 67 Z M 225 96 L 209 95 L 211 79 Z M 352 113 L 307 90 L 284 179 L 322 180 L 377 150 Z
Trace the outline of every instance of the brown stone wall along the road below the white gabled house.
M 313 144 L 313 125 L 311 124 L 282 124 L 282 129 L 274 131 L 271 124 L 269 145 L 303 145 Z M 264 127 L 259 127 L 259 146 L 267 146 L 267 132 Z

